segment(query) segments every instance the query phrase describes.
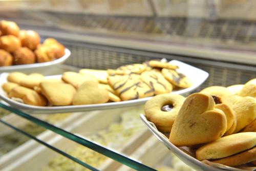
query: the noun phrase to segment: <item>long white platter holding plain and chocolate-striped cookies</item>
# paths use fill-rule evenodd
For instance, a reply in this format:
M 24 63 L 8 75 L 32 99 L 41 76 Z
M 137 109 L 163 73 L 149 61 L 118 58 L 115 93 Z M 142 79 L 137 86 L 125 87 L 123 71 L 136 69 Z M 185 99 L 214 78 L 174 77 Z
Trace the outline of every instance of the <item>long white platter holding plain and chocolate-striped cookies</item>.
M 182 89 L 178 91 L 173 91 L 173 94 L 181 94 L 184 95 L 189 93 L 196 88 L 198 88 L 208 77 L 208 73 L 195 68 L 193 66 L 187 65 L 178 60 L 172 60 L 169 63 L 173 65 L 179 66 L 180 73 L 186 75 L 192 82 L 192 86 L 187 89 Z M 33 106 L 24 103 L 20 103 L 14 101 L 7 97 L 7 94 L 2 89 L 2 84 L 7 82 L 7 75 L 8 73 L 3 73 L 0 75 L 0 98 L 3 99 L 5 102 L 9 103 L 13 108 L 23 110 L 33 114 L 50 114 L 50 113 L 67 113 L 67 112 L 82 112 L 82 111 L 94 111 L 94 110 L 105 110 L 105 109 L 115 109 L 115 108 L 123 108 L 126 106 L 133 106 L 144 104 L 147 100 L 151 99 L 152 97 L 146 97 L 141 99 L 135 100 L 128 100 L 128 101 L 120 101 L 120 102 L 109 102 L 109 103 L 101 103 L 101 104 L 87 104 L 87 105 L 67 105 L 67 106 Z M 54 75 L 54 76 L 46 76 L 46 78 L 60 78 L 61 75 Z

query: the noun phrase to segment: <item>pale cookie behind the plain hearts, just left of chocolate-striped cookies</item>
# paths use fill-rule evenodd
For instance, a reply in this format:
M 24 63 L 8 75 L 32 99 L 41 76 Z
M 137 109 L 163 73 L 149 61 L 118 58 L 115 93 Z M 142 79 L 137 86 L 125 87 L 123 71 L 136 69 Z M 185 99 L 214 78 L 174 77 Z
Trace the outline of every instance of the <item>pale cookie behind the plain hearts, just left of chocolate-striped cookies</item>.
M 106 70 L 91 70 L 91 69 L 81 69 L 80 74 L 93 75 L 100 83 L 108 83 L 108 72 Z

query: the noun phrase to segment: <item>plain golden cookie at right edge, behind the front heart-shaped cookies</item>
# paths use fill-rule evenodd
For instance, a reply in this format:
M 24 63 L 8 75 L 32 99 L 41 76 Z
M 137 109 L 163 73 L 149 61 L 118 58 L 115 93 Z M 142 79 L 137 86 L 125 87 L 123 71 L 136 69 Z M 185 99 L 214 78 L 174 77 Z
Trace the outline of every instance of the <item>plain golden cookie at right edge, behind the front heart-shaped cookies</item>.
M 229 96 L 224 100 L 237 117 L 237 127 L 234 133 L 239 132 L 256 118 L 256 99 L 253 97 Z

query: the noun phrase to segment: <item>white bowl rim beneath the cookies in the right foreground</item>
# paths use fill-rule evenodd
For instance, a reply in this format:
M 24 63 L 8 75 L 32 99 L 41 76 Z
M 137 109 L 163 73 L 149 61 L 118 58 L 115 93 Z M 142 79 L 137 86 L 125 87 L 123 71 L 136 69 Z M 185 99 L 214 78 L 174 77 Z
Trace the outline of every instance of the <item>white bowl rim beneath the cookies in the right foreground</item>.
M 226 165 L 213 163 L 207 160 L 204 160 L 207 164 L 197 160 L 196 158 L 188 155 L 185 153 L 186 149 L 183 149 L 181 147 L 177 147 L 174 144 L 170 143 L 167 137 L 165 137 L 162 133 L 160 133 L 154 123 L 148 121 L 145 117 L 145 115 L 140 114 L 141 120 L 145 123 L 148 130 L 151 131 L 155 137 L 162 142 L 170 151 L 172 151 L 180 160 L 182 160 L 184 163 L 186 163 L 188 166 L 191 166 L 192 168 L 196 170 L 212 170 L 212 171 L 223 171 L 223 170 L 232 170 L 232 171 L 242 171 L 244 169 L 229 167 Z M 254 169 L 250 169 L 254 170 Z

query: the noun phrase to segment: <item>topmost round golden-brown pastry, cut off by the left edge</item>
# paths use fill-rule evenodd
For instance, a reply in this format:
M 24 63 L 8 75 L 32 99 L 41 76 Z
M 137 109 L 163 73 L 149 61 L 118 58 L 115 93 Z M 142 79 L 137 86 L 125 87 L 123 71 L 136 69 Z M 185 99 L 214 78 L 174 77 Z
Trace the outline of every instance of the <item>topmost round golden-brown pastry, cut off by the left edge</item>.
M 2 32 L 2 35 L 10 34 L 10 35 L 18 36 L 19 27 L 17 26 L 17 24 L 15 22 L 1 20 L 0 21 L 0 31 Z

